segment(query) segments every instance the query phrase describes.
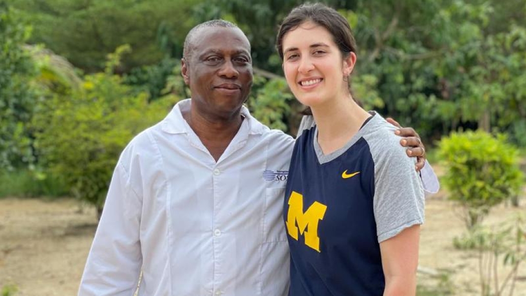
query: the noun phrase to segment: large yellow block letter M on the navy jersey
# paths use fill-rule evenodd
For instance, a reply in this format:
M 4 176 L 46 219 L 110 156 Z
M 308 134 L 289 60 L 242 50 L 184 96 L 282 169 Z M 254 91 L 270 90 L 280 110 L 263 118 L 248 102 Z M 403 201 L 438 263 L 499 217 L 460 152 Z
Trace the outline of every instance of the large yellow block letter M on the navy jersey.
M 305 233 L 305 244 L 320 252 L 320 238 L 318 237 L 318 222 L 323 220 L 327 206 L 314 202 L 303 212 L 303 195 L 292 191 L 289 198 L 289 212 L 287 213 L 287 231 L 292 238 L 298 240 L 299 234 Z M 296 222 L 298 226 L 296 226 Z M 309 226 L 308 230 L 307 226 Z

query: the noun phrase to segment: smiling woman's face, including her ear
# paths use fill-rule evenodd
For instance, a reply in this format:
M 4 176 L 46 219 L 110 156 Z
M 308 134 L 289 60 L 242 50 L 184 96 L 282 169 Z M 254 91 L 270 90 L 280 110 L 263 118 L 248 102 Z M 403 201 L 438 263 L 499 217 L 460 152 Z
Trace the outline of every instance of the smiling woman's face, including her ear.
M 356 55 L 342 58 L 326 28 L 305 22 L 283 38 L 283 70 L 290 90 L 302 104 L 316 107 L 348 97 L 347 82 Z

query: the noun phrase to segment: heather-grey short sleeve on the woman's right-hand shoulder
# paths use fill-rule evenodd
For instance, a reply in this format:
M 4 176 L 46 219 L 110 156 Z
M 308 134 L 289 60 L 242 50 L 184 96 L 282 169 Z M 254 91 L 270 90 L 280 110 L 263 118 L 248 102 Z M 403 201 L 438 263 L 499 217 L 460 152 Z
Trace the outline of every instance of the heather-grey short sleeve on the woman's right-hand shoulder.
M 394 135 L 394 134 L 393 134 Z M 422 182 L 399 139 L 386 133 L 371 146 L 375 162 L 375 212 L 378 242 L 424 223 Z

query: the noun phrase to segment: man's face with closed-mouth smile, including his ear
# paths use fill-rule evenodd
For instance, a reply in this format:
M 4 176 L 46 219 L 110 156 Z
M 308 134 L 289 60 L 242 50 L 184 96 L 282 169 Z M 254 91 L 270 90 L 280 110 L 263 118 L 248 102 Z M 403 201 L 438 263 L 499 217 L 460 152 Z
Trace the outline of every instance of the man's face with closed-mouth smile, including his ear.
M 207 27 L 196 32 L 181 68 L 193 108 L 210 119 L 237 115 L 252 86 L 250 44 L 239 28 Z

